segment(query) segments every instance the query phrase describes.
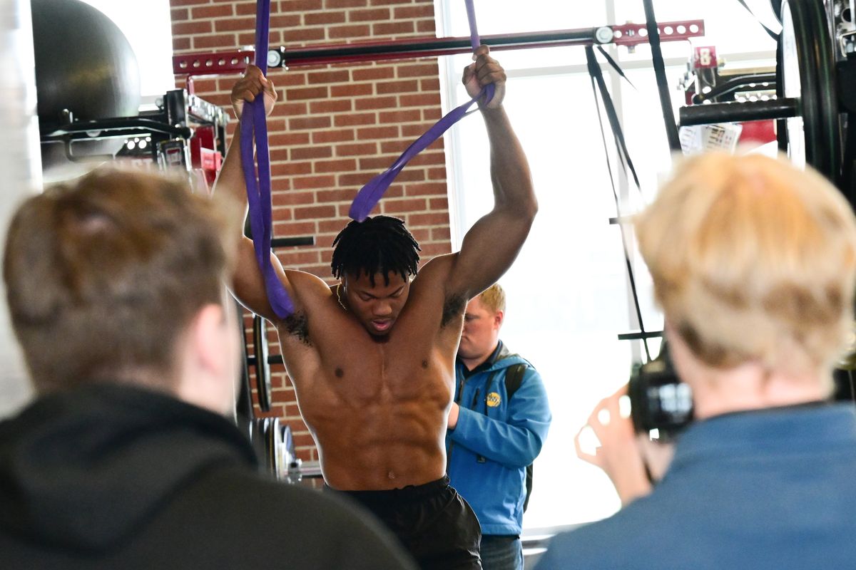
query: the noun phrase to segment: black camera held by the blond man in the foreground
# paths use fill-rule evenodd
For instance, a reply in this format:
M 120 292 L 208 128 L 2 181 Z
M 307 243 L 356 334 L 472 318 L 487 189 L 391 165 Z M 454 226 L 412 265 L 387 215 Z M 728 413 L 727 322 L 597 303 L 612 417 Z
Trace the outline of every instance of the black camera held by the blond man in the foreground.
M 665 341 L 656 359 L 633 370 L 627 395 L 637 433 L 657 430 L 668 442 L 693 421 L 693 391 L 675 373 Z

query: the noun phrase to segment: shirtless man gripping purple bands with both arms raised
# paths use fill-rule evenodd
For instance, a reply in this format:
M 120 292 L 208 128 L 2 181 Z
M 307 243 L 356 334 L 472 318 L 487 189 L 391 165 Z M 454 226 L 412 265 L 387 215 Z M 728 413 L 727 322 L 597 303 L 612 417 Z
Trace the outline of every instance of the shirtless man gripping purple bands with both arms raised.
M 235 273 L 235 295 L 276 326 L 326 484 L 377 514 L 424 568 L 480 567 L 478 520 L 445 474 L 455 351 L 467 301 L 505 273 L 538 209 L 526 156 L 502 108 L 505 72 L 488 52 L 479 47 L 463 81 L 472 96 L 496 85 L 481 109 L 495 204 L 460 252 L 432 259 L 416 276 L 419 246 L 401 220 L 352 221 L 334 244 L 340 280 L 332 288 L 310 273 L 283 270 L 271 255 L 294 302 L 286 319 L 270 308 L 248 239 Z M 273 85 L 248 68 L 232 90 L 235 112 L 262 93 L 272 109 Z M 229 152 L 217 191 L 246 203 L 240 159 Z

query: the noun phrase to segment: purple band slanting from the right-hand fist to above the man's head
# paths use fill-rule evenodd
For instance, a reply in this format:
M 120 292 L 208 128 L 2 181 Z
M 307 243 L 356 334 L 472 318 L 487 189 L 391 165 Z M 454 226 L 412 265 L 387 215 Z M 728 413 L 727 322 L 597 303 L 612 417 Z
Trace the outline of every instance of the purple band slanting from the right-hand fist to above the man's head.
M 473 44 L 473 51 L 475 51 L 481 44 L 481 40 L 479 39 L 479 30 L 476 28 L 475 9 L 473 8 L 473 0 L 465 0 L 465 2 L 467 3 L 467 20 L 470 23 L 470 41 Z M 449 111 L 449 113 L 447 113 L 442 119 L 438 120 L 433 126 L 431 126 L 425 134 L 413 141 L 413 144 L 408 146 L 407 150 L 401 153 L 401 156 L 392 163 L 391 167 L 383 173 L 377 174 L 377 176 L 369 180 L 368 184 L 363 186 L 360 191 L 357 192 L 357 197 L 355 197 L 354 202 L 351 203 L 351 209 L 348 212 L 348 215 L 357 221 L 366 220 L 368 215 L 372 212 L 372 209 L 374 209 L 375 205 L 377 205 L 381 197 L 383 197 L 383 194 L 387 189 L 389 189 L 389 185 L 392 184 L 392 181 L 395 180 L 395 177 L 401 172 L 401 168 L 405 167 L 407 162 L 410 162 L 410 159 L 412 159 L 413 156 L 418 155 L 422 150 L 425 150 L 429 144 L 433 143 L 437 138 L 440 138 L 443 135 L 443 132 L 449 130 L 450 126 L 454 125 L 466 116 L 467 109 L 472 107 L 473 103 L 476 103 L 482 97 L 484 97 L 484 104 L 490 103 L 490 99 L 493 98 L 494 89 L 495 88 L 492 83 L 490 85 L 485 85 L 479 95 L 473 97 L 467 103 Z

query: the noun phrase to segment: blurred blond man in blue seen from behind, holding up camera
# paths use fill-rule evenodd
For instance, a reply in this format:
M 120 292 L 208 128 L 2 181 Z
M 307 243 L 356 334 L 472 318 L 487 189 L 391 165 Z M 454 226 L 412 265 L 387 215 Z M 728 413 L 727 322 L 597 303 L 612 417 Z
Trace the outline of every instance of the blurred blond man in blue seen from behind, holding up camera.
M 852 566 L 856 418 L 828 402 L 853 322 L 849 204 L 782 159 L 710 154 L 677 168 L 636 231 L 696 421 L 650 495 L 560 535 L 538 568 Z M 639 473 L 627 420 L 598 428 L 591 461 Z

